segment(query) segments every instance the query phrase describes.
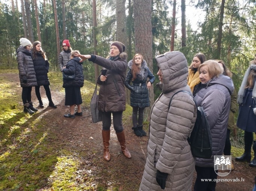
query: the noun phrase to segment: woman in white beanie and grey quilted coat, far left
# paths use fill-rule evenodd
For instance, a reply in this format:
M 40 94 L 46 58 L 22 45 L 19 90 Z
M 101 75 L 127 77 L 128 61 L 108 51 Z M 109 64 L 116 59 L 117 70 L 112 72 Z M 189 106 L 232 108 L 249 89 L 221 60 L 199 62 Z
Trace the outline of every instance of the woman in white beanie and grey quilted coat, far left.
M 38 109 L 33 107 L 31 101 L 31 91 L 33 86 L 37 86 L 36 73 L 31 54 L 32 43 L 27 38 L 20 39 L 21 46 L 17 49 L 18 70 L 20 76 L 20 86 L 22 87 L 21 98 L 24 112 L 34 114 Z

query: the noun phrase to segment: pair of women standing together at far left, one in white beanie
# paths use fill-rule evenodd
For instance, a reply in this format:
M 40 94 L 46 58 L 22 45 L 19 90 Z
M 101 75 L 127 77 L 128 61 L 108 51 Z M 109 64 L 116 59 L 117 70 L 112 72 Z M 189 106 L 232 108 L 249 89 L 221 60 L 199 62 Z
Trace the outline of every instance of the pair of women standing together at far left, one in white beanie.
M 39 107 L 44 107 L 40 86 L 44 86 L 49 106 L 57 108 L 51 99 L 50 81 L 47 76 L 49 61 L 41 47 L 41 42 L 35 41 L 32 46 L 32 43 L 27 38 L 21 38 L 20 44 L 20 47 L 17 49 L 17 61 L 20 85 L 22 87 L 21 98 L 24 106 L 23 111 L 29 114 L 34 114 L 38 111 L 38 109 L 33 106 L 31 98 L 32 87 L 35 87 Z

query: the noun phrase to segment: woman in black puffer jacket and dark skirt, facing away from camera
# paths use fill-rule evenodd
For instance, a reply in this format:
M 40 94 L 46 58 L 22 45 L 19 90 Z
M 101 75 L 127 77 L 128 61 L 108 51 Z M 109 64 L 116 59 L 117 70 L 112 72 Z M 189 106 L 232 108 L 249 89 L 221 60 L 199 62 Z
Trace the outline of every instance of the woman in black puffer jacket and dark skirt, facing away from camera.
M 83 62 L 80 57 L 75 56 L 80 54 L 78 50 L 71 51 L 70 60 L 68 64 L 63 67 L 62 73 L 67 75 L 75 74 L 75 78 L 72 80 L 65 80 L 63 78 L 63 86 L 65 88 L 65 105 L 69 105 L 70 113 L 64 115 L 64 117 L 75 118 L 75 115 L 81 116 L 81 104 L 82 96 L 80 88 L 84 86 L 84 76 L 83 76 Z M 75 105 L 77 105 L 77 112 L 75 113 Z

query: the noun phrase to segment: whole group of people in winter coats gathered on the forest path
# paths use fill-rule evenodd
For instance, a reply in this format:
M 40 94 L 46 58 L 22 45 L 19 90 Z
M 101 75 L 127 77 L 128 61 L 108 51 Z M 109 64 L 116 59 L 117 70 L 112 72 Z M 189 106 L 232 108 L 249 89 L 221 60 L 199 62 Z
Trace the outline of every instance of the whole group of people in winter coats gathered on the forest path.
M 36 43 L 40 44 L 40 48 Z M 50 92 L 48 88 L 50 83 L 47 82 L 49 62 L 41 49 L 41 43 L 36 41 L 34 44 L 35 48 L 33 45 L 31 54 L 31 43 L 22 38 L 21 46 L 17 50 L 21 87 L 24 89 L 22 93 L 24 111 L 28 113 L 35 109 L 31 102 L 32 86 L 43 85 L 45 90 Z M 105 161 L 111 160 L 109 151 L 111 115 L 121 150 L 126 158 L 131 158 L 126 148 L 122 124 L 122 114 L 126 106 L 125 86 L 131 91 L 132 129 L 137 136 L 146 136 L 147 133 L 143 130 L 143 115 L 145 108 L 150 105 L 149 88 L 155 81 L 155 76 L 149 70 L 143 56 L 136 54 L 127 64 L 125 45 L 119 41 L 111 43 L 110 56 L 107 58 L 98 55 L 81 55 L 78 50 L 72 51 L 68 40 L 64 40 L 62 45 L 63 51 L 59 55 L 60 70 L 68 75 L 75 74 L 74 80 L 63 81 L 66 93 L 65 105 L 70 106 L 70 113 L 64 117 L 74 118 L 75 115 L 82 115 L 80 88 L 84 83 L 83 61 L 88 59 L 102 66 L 106 72 L 101 72 L 97 83 L 100 84 L 98 110 L 102 113 L 103 158 Z M 256 167 L 256 144 L 253 144 L 254 158 L 250 161 L 253 132 L 256 132 L 254 125 L 256 124 L 256 60 L 251 61 L 237 97 L 231 79 L 232 73 L 223 61 L 206 60 L 205 55 L 198 53 L 188 67 L 184 54 L 178 51 L 166 52 L 155 59 L 160 80 L 156 87 L 162 93 L 151 110 L 148 153 L 139 190 L 158 191 L 160 188 L 168 191 L 191 190 L 193 174 L 196 170 L 194 191 L 214 191 L 216 182 L 202 182 L 201 179 L 217 178 L 214 170 L 214 155 L 222 155 L 223 152 L 224 155 L 231 155 L 230 130 L 234 128 L 236 99 L 239 104 L 237 126 L 245 131 L 245 151 L 241 157 L 236 157 L 236 160 L 248 161 L 250 166 Z M 42 67 L 40 63 L 44 63 L 45 66 Z M 129 70 L 126 74 L 127 67 Z M 42 73 L 44 69 L 46 73 Z M 45 75 L 47 78 L 43 78 Z M 192 95 L 179 92 L 173 96 L 180 90 L 191 92 Z M 40 104 L 38 87 L 36 92 Z M 53 107 L 50 94 L 48 95 L 49 106 Z M 169 103 L 172 96 L 172 102 Z M 75 105 L 78 108 L 76 113 L 74 113 Z M 207 119 L 212 135 L 210 159 L 194 158 L 187 141 L 196 121 L 196 106 L 203 107 L 206 116 L 209 116 Z

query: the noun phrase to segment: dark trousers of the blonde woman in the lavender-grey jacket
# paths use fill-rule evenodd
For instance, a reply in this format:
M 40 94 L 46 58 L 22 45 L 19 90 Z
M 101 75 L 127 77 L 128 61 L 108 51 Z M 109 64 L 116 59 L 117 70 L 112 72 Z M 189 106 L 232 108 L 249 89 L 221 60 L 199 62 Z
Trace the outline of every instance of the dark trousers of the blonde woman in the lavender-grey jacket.
M 217 174 L 212 167 L 199 167 L 195 166 L 196 169 L 196 182 L 194 185 L 194 191 L 215 191 Z M 212 181 L 201 181 L 201 179 L 212 179 Z

